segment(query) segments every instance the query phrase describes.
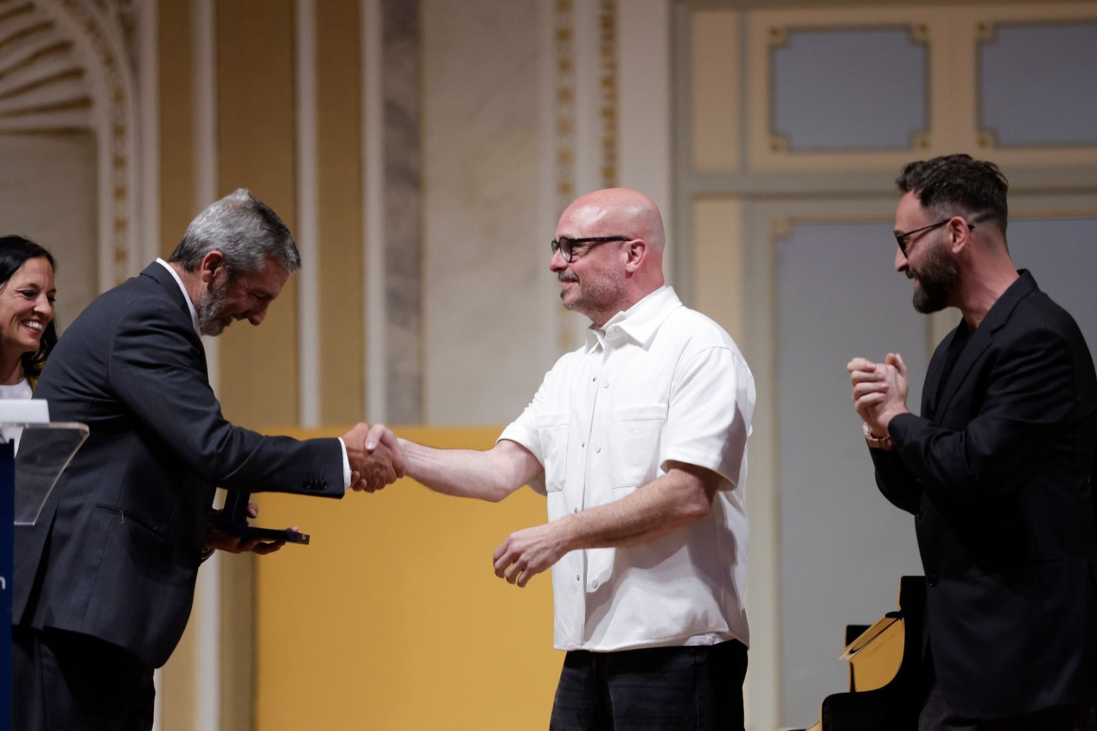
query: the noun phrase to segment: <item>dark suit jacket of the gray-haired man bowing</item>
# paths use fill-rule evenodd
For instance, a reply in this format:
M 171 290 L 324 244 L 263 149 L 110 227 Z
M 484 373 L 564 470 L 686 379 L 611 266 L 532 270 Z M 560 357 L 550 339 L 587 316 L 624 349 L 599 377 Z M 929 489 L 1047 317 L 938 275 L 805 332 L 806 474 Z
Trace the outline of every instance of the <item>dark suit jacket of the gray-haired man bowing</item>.
M 15 530 L 12 621 L 91 634 L 150 666 L 186 626 L 216 486 L 343 494 L 338 440 L 225 420 L 186 301 L 159 263 L 72 323 L 35 397 L 90 435 L 37 524 Z

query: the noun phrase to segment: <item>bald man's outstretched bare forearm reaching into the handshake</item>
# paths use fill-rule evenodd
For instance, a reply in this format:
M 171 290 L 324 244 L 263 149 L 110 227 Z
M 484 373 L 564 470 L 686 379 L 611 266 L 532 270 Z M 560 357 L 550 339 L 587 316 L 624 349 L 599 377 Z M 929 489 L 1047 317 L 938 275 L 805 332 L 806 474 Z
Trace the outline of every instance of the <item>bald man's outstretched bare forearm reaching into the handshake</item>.
M 407 439 L 399 439 L 399 446 L 406 474 L 445 495 L 497 503 L 528 480 L 521 461 L 506 459 L 495 449 L 437 449 Z

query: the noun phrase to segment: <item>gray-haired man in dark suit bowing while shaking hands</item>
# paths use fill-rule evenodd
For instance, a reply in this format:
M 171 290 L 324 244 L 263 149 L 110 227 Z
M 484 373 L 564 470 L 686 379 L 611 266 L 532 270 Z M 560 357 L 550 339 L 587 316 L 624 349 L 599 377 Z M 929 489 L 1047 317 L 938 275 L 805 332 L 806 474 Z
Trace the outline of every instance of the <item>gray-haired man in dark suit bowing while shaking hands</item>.
M 151 728 L 152 670 L 186 626 L 218 485 L 341 497 L 403 473 L 392 452 L 365 451 L 364 424 L 296 441 L 220 414 L 200 334 L 262 323 L 299 263 L 278 215 L 238 190 L 50 355 L 35 397 L 90 434 L 36 525 L 16 529 L 13 728 Z

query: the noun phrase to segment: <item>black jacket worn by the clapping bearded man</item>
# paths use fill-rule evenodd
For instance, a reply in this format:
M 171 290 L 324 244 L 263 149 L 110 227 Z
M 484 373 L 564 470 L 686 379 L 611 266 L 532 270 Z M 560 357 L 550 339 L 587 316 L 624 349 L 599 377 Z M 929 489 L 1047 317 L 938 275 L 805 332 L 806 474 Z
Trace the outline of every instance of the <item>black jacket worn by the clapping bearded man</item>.
M 938 683 L 965 717 L 1089 702 L 1097 683 L 1089 481 L 1097 379 L 1074 319 L 1022 271 L 946 375 L 938 346 L 921 416 L 871 450 L 880 491 L 915 515 Z

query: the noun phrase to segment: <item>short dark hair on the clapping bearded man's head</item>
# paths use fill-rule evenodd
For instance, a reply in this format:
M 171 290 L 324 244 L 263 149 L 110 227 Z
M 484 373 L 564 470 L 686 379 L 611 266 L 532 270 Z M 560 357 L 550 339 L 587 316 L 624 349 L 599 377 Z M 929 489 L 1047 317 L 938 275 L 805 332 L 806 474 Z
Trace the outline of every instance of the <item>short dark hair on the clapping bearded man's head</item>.
M 941 216 L 961 209 L 968 215 L 982 213 L 1006 230 L 1006 190 L 1009 181 L 994 162 L 972 159 L 971 155 L 945 155 L 931 160 L 909 162 L 895 185 L 918 196 L 921 207 Z

